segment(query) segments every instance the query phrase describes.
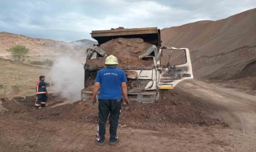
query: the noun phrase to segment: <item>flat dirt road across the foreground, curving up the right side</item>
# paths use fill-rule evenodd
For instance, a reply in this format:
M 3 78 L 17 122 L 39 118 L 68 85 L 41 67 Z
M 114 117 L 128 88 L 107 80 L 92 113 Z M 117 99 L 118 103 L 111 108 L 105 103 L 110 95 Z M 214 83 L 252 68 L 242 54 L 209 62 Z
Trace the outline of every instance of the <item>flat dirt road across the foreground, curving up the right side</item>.
M 98 147 L 94 143 L 96 123 L 53 119 L 58 112 L 52 112 L 51 117 L 49 114 L 38 117 L 35 111 L 0 112 L 0 151 L 256 150 L 255 96 L 199 80 L 185 81 L 176 90 L 182 92 L 185 89 L 190 94 L 190 100 L 214 106 L 214 116 L 221 116 L 227 126 L 154 123 L 155 130 L 120 127 L 118 145 L 110 146 L 106 142 L 104 147 Z

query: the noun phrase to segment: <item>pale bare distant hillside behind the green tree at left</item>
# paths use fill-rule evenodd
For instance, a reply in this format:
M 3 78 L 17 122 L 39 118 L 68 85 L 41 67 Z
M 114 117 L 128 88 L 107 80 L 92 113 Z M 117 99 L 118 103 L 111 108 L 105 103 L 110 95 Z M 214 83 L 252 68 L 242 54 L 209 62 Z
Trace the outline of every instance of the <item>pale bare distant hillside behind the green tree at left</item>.
M 81 46 L 80 44 L 77 45 L 75 43 L 68 44 L 63 41 L 54 41 L 48 39 L 29 38 L 23 35 L 0 32 L 0 56 L 9 55 L 6 49 L 9 49 L 9 47 L 16 44 L 22 44 L 29 47 L 30 56 L 43 55 L 46 57 L 82 54 L 85 52 L 87 47 L 93 47 L 93 41 L 82 40 L 79 42 L 80 44 L 84 43 L 84 45 Z

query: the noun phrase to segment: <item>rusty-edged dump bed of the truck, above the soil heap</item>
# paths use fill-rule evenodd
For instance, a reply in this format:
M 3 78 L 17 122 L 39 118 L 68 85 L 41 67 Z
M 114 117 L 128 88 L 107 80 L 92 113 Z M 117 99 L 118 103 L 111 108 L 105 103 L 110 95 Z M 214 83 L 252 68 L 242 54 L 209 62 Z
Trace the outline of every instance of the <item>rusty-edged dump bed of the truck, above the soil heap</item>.
M 157 47 L 161 46 L 160 29 L 157 27 L 93 30 L 91 37 L 97 40 L 99 45 L 115 38 L 141 38 L 146 43 L 151 43 Z

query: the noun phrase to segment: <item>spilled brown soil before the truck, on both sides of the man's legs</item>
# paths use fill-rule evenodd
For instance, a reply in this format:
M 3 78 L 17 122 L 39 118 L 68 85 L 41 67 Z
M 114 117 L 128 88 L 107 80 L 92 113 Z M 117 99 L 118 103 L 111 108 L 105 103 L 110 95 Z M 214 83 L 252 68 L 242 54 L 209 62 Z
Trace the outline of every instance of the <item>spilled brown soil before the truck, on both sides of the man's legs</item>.
M 120 124 L 132 128 L 146 128 L 154 130 L 165 123 L 193 123 L 197 125 L 222 124 L 216 119 L 216 107 L 180 91 L 161 92 L 157 103 L 143 105 L 132 102 L 124 105 Z M 79 101 L 70 105 L 54 108 L 43 108 L 34 111 L 37 119 L 75 120 L 78 122 L 98 122 L 98 104 Z

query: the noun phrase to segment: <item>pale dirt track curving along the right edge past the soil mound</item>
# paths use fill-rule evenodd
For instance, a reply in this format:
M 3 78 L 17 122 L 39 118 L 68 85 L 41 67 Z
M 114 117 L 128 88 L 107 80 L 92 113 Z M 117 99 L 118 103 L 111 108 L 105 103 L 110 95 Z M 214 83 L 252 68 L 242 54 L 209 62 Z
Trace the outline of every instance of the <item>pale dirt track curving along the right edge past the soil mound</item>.
M 185 81 L 179 89 L 227 109 L 219 111 L 229 123 L 236 151 L 256 151 L 256 96 L 199 80 Z

